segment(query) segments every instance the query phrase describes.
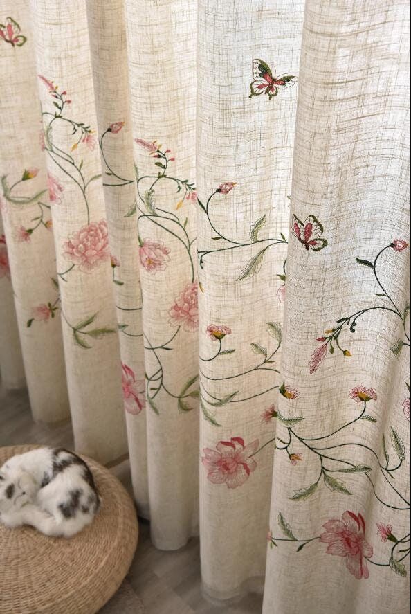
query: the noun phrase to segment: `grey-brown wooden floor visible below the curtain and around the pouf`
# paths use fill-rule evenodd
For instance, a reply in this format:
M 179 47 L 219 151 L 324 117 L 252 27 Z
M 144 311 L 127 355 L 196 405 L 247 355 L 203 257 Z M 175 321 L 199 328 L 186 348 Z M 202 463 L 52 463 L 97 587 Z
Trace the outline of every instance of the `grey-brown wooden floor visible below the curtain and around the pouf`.
M 25 390 L 6 392 L 0 383 L 0 446 L 47 444 L 73 447 L 71 424 L 44 426 L 31 419 Z M 127 462 L 111 469 L 129 488 Z M 140 539 L 129 573 L 100 614 L 259 614 L 262 597 L 248 595 L 232 606 L 215 606 L 201 594 L 199 540 L 176 552 L 156 550 L 149 523 L 140 521 Z

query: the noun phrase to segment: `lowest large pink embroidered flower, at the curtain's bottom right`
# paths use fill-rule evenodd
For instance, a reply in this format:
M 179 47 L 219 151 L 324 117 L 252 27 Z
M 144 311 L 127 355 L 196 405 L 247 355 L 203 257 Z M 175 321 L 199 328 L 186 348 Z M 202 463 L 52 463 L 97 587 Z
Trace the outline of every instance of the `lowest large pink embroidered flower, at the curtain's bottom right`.
M 327 554 L 345 557 L 349 572 L 357 580 L 367 579 L 367 559 L 372 557 L 374 550 L 365 539 L 363 516 L 347 511 L 343 514 L 343 520 L 334 518 L 325 523 L 324 528 L 325 533 L 320 536 L 320 542 L 328 544 Z

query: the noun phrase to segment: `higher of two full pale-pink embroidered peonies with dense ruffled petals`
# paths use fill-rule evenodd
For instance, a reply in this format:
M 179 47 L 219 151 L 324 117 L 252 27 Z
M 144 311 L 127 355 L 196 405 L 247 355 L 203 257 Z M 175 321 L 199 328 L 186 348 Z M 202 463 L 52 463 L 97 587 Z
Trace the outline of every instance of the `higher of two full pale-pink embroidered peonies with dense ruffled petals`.
M 109 233 L 105 219 L 83 226 L 64 243 L 64 257 L 78 264 L 80 271 L 92 271 L 109 256 Z

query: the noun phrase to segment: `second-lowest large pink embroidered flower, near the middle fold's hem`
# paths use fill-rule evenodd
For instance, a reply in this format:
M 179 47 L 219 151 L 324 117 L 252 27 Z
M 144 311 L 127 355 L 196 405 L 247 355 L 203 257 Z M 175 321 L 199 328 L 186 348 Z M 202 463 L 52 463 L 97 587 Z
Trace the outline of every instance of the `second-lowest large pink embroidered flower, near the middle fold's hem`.
M 215 450 L 204 448 L 201 462 L 207 469 L 208 480 L 213 484 L 226 484 L 228 488 L 243 485 L 257 467 L 250 457 L 257 451 L 258 444 L 255 440 L 246 446 L 241 437 L 231 437 L 229 442 L 219 442 Z

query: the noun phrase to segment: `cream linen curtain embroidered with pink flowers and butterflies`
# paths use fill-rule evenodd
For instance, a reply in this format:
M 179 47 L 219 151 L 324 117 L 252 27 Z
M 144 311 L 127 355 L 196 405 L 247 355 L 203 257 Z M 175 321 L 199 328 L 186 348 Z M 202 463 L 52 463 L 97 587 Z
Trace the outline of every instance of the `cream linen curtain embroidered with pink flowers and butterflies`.
M 1 3 L 3 383 L 264 614 L 408 611 L 407 13 Z

